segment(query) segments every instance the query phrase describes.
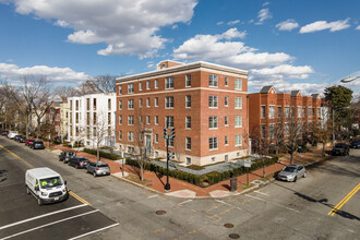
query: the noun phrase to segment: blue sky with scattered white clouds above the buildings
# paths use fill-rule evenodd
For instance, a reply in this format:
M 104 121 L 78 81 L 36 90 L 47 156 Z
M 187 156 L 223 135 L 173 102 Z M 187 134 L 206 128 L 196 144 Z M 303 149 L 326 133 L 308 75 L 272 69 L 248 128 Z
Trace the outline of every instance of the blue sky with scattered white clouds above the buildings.
M 359 0 L 0 0 L 0 80 L 52 86 L 161 60 L 249 71 L 249 93 L 323 93 L 360 75 Z M 360 94 L 360 79 L 341 84 Z

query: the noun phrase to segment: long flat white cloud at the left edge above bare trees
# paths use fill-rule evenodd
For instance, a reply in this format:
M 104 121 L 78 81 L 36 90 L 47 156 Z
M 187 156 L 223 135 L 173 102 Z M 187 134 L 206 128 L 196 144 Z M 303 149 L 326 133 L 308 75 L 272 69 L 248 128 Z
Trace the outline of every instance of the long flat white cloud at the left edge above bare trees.
M 88 77 L 83 72 L 75 72 L 70 68 L 34 65 L 20 68 L 16 64 L 0 63 L 0 79 L 17 81 L 24 75 L 43 75 L 50 82 L 80 82 Z

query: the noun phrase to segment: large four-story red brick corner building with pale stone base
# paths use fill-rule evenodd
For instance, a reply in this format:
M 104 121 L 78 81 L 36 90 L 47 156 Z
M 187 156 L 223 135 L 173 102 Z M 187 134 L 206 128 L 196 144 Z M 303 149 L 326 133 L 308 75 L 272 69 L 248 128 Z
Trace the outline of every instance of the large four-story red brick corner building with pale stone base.
M 149 157 L 166 158 L 165 127 L 175 128 L 169 151 L 185 165 L 248 155 L 247 95 L 247 71 L 208 62 L 167 60 L 156 71 L 117 79 L 118 147 L 136 154 L 143 123 Z

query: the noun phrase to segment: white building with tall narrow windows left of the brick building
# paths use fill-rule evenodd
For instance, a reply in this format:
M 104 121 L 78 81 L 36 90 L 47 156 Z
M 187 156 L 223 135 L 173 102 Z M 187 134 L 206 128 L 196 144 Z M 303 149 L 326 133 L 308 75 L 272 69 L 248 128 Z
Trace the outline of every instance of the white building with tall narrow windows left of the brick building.
M 69 97 L 68 141 L 85 147 L 116 146 L 116 94 Z

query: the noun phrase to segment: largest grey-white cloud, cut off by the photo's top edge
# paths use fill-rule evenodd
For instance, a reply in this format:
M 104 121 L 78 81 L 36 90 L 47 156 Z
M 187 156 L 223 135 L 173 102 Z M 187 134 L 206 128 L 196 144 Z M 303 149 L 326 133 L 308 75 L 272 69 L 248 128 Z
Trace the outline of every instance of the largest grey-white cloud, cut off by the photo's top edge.
M 3 1 L 3 0 L 0 0 Z M 155 56 L 167 39 L 160 27 L 187 23 L 197 0 L 13 0 L 16 12 L 55 20 L 74 33 L 68 40 L 77 44 L 105 43 L 99 55 Z

